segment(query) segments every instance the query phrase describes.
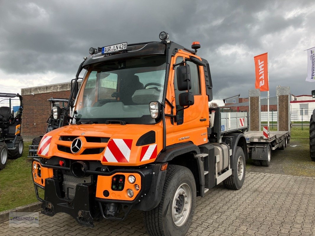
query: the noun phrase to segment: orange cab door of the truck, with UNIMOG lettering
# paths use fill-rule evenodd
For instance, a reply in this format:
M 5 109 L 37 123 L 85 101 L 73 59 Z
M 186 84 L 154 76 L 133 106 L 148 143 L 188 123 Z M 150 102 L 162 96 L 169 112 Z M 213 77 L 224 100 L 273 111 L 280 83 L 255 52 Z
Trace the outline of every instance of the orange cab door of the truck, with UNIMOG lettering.
M 174 122 L 173 143 L 192 142 L 196 145 L 207 143 L 207 127 L 209 127 L 208 96 L 205 92 L 204 75 L 202 66 L 190 61 L 189 54 L 177 53 L 173 58 L 173 64 L 186 61 L 190 66 L 194 104 L 187 109 L 177 112 L 177 119 Z M 176 110 L 180 110 L 179 94 L 187 91 L 179 91 L 177 87 L 176 68 L 172 73 L 174 85 L 172 104 Z M 201 80 L 203 78 L 203 80 Z

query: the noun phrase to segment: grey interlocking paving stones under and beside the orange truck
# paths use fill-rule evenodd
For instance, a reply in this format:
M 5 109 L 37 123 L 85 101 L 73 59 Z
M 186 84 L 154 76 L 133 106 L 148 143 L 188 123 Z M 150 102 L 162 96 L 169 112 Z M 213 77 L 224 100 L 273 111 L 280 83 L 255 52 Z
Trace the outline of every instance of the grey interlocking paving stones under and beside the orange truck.
M 39 228 L 4 222 L 0 235 L 147 235 L 140 211 L 124 222 L 96 222 L 93 229 L 66 214 L 40 214 L 39 222 Z M 187 235 L 315 235 L 315 178 L 251 172 L 239 191 L 210 189 L 197 199 Z

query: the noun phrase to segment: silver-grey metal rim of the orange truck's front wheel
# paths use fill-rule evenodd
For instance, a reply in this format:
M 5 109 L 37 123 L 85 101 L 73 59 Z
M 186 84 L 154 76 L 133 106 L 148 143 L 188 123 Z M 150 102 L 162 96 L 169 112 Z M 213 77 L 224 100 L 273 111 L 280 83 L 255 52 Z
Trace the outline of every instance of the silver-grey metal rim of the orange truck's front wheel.
M 182 226 L 190 213 L 192 206 L 192 192 L 186 183 L 177 188 L 172 205 L 173 222 L 176 226 Z

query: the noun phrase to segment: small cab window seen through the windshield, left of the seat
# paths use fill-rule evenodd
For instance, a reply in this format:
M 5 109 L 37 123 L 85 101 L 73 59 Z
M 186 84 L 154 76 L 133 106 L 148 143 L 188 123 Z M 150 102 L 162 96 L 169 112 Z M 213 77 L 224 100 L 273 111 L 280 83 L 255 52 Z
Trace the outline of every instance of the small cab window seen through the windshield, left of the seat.
M 117 74 L 100 72 L 99 73 L 99 98 L 104 99 L 116 99 L 112 97 L 114 92 L 117 92 Z

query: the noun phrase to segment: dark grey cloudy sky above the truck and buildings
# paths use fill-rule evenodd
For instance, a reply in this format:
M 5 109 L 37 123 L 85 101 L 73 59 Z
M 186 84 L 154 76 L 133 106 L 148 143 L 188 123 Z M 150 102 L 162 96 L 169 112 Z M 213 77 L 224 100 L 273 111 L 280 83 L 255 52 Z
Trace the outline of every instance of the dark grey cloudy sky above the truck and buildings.
M 0 0 L 0 92 L 70 81 L 90 47 L 158 41 L 160 31 L 210 63 L 214 99 L 255 86 L 255 55 L 269 52 L 277 85 L 310 94 L 307 53 L 315 47 L 315 1 Z M 266 92 L 261 95 L 266 96 Z

